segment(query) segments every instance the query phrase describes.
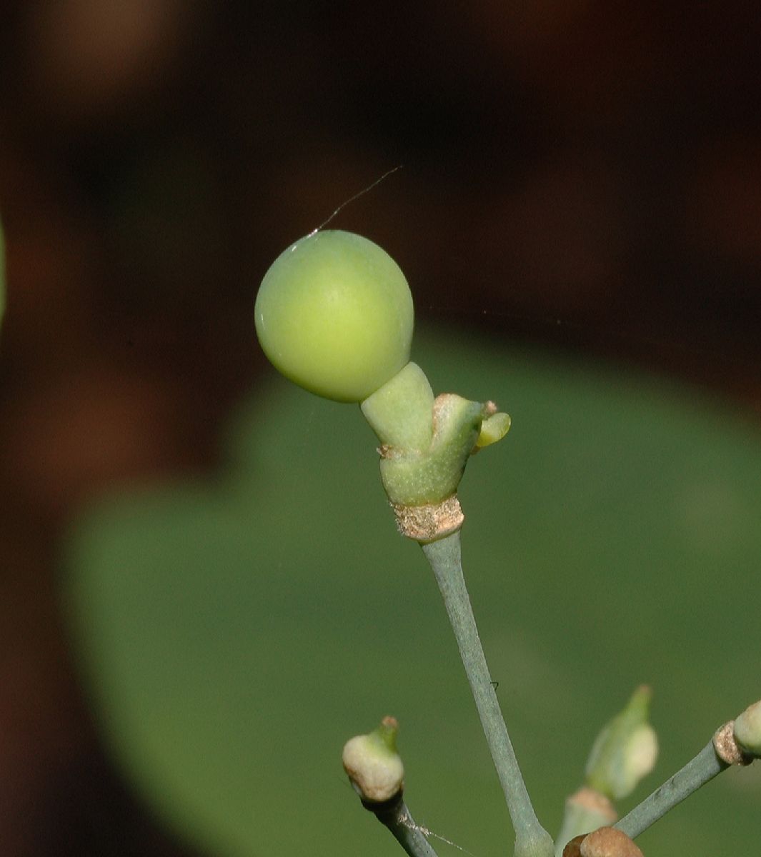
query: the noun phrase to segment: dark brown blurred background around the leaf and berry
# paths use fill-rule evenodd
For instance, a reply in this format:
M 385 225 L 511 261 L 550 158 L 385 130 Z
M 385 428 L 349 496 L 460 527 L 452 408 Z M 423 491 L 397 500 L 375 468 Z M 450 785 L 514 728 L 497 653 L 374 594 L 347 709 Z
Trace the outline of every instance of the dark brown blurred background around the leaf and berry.
M 0 12 L 0 850 L 188 854 L 57 617 L 87 498 L 215 464 L 270 261 L 346 207 L 418 315 L 761 406 L 752 3 L 28 0 Z

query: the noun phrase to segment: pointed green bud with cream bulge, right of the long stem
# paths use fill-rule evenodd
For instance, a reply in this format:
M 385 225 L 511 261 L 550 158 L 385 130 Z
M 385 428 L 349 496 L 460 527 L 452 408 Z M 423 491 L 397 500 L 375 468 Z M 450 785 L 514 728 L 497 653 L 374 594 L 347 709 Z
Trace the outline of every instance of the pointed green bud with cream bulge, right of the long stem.
M 652 691 L 641 686 L 626 708 L 597 736 L 586 765 L 587 785 L 611 800 L 620 800 L 653 770 L 658 740 L 648 722 Z

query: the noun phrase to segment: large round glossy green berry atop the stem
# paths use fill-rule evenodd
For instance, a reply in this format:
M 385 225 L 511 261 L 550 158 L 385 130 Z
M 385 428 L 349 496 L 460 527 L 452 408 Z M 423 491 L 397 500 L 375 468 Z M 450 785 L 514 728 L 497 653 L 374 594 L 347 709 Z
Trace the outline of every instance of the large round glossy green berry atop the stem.
M 314 232 L 281 253 L 255 319 L 276 369 L 327 399 L 361 402 L 410 360 L 410 287 L 385 250 L 351 232 Z

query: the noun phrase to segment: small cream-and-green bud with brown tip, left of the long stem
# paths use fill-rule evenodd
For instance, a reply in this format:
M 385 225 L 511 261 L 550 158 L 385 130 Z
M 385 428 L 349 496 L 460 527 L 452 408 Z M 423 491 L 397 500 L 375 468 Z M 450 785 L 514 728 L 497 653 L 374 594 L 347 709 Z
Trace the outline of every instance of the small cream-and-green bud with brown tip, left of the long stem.
M 384 717 L 367 735 L 357 735 L 344 746 L 344 770 L 359 796 L 368 803 L 390 800 L 404 788 L 404 765 L 396 748 L 398 722 Z

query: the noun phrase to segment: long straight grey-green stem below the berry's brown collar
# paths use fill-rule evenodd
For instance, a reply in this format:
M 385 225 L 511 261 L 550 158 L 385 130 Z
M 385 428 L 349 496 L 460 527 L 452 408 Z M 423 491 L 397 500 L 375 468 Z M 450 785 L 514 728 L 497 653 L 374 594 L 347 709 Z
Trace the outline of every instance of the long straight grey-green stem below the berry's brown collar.
M 436 542 L 423 544 L 422 549 L 434 570 L 436 582 L 444 597 L 446 612 L 449 614 L 465 673 L 470 681 L 470 690 L 481 717 L 483 733 L 486 735 L 494 767 L 505 793 L 507 809 L 515 830 L 515 857 L 552 857 L 552 837 L 539 823 L 534 807 L 531 806 L 488 672 L 463 577 L 459 531 Z

